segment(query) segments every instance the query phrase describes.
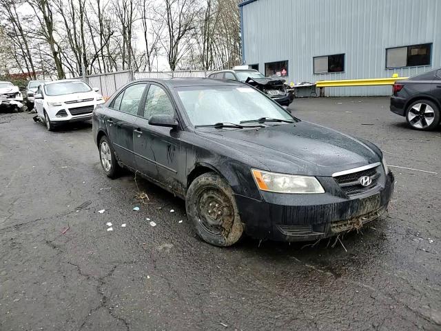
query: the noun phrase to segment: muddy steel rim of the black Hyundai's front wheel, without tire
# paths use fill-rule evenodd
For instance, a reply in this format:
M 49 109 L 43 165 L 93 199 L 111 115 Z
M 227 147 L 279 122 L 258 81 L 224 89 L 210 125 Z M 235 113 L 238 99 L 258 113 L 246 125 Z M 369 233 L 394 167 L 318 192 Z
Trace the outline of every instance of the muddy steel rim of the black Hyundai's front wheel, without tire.
M 210 234 L 225 236 L 234 223 L 234 208 L 227 195 L 218 188 L 205 188 L 198 194 L 196 217 Z

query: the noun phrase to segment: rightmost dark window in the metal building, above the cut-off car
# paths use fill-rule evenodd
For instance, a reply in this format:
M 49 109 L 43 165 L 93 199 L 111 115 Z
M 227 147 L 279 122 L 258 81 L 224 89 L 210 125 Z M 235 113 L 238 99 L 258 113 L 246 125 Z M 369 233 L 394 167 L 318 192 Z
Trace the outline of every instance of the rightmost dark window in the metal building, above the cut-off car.
M 401 68 L 413 66 L 429 66 L 431 57 L 431 43 L 420 45 L 387 48 L 386 68 Z

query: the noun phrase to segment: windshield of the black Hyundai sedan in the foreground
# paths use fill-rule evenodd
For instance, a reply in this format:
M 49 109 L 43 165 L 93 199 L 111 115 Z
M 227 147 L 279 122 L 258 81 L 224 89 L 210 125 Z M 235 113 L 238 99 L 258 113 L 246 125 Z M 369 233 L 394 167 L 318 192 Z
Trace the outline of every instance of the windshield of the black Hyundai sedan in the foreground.
M 283 108 L 249 86 L 191 86 L 176 90 L 194 126 L 262 117 L 293 121 Z

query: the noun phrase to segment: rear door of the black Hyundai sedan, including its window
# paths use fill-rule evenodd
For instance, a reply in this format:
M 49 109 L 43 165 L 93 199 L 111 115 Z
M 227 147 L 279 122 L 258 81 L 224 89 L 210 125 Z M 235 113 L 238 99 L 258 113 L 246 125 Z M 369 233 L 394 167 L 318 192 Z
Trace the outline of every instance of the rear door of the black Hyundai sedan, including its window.
M 134 83 L 114 99 L 105 116 L 107 133 L 119 159 L 127 166 L 136 168 L 133 137 L 136 119 L 147 83 Z

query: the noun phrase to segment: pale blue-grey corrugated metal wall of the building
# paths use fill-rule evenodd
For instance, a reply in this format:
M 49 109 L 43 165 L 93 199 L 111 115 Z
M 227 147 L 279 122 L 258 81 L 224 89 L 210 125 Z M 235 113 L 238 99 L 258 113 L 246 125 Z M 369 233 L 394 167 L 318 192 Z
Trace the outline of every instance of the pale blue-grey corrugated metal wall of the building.
M 289 60 L 287 81 L 413 76 L 441 67 L 440 0 L 257 0 L 243 6 L 247 64 Z M 386 48 L 433 43 L 431 66 L 386 69 Z M 313 57 L 345 53 L 345 72 L 314 74 Z M 388 95 L 389 86 L 327 88 Z

